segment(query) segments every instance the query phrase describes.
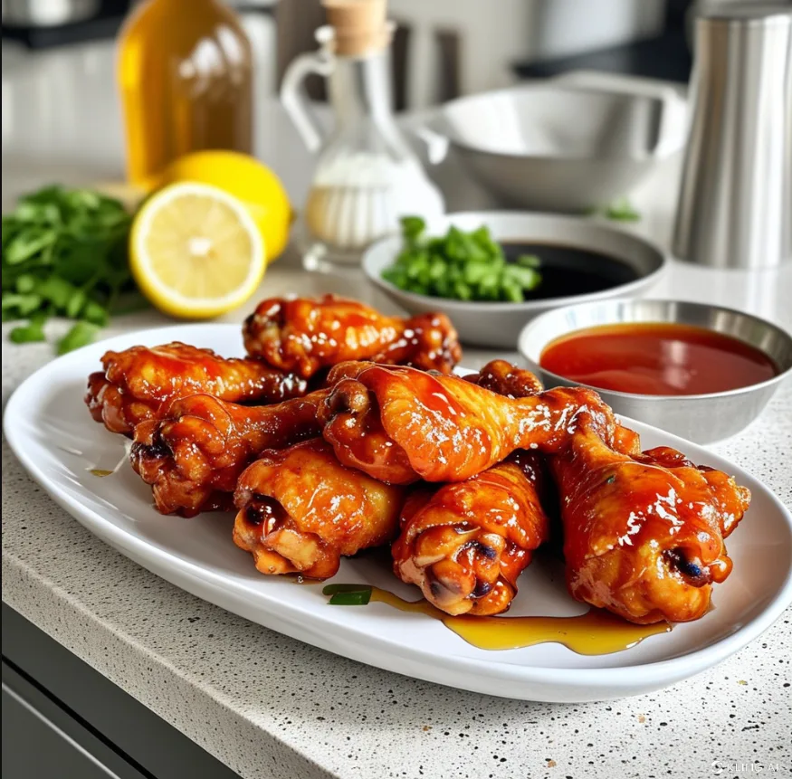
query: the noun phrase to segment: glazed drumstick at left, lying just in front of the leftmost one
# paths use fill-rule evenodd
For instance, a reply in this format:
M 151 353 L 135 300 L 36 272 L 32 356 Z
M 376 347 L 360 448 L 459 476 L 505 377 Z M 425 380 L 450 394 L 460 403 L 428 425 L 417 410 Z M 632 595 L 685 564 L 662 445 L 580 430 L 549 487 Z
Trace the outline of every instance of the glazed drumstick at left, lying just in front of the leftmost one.
M 328 381 L 357 375 L 367 363 L 345 363 Z M 243 406 L 213 395 L 172 401 L 161 419 L 135 428 L 132 467 L 154 491 L 157 510 L 192 517 L 231 508 L 239 475 L 265 449 L 320 435 L 329 388 L 281 404 Z

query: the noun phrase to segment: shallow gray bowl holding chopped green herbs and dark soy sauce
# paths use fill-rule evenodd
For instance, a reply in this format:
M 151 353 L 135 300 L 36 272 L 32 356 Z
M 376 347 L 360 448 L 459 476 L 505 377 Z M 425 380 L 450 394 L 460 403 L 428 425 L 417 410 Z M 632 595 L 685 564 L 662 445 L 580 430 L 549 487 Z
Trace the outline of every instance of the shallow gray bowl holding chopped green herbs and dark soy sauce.
M 573 302 L 601 300 L 635 294 L 660 280 L 666 267 L 663 252 L 653 244 L 607 224 L 575 216 L 526 214 L 518 211 L 475 211 L 449 214 L 428 225 L 430 234 L 442 234 L 449 224 L 471 231 L 489 226 L 496 241 L 561 244 L 605 254 L 622 261 L 637 278 L 608 290 L 564 298 L 526 300 L 522 303 L 474 303 L 430 298 L 399 290 L 382 278 L 401 250 L 401 238 L 386 238 L 373 244 L 363 257 L 363 271 L 373 284 L 411 314 L 442 311 L 453 321 L 463 343 L 480 347 L 514 349 L 526 322 L 538 314 Z M 541 252 L 537 250 L 540 255 Z

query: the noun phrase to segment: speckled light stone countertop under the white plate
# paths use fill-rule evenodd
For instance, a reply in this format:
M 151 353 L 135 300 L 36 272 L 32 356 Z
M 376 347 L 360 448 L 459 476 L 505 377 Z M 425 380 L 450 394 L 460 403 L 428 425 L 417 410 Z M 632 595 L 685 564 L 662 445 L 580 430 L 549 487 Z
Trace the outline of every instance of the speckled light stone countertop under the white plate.
M 70 81 L 69 62 L 52 63 L 58 90 L 71 83 L 75 92 L 94 90 L 107 99 L 93 100 L 95 110 L 79 128 L 55 127 L 33 103 L 27 124 L 16 118 L 16 136 L 4 135 L 6 203 L 6 195 L 53 178 L 119 174 L 113 90 L 102 81 L 112 69 L 72 64 Z M 52 82 L 52 74 L 34 75 Z M 260 126 L 267 132 L 259 153 L 299 203 L 310 160 L 271 108 L 263 106 Z M 661 243 L 677 175 L 673 165 L 664 166 L 631 196 L 644 214 L 635 229 Z M 481 202 L 453 177 L 444 190 L 450 208 Z M 339 291 L 386 307 L 362 281 L 309 277 L 287 260 L 268 272 L 263 291 Z M 674 264 L 655 294 L 719 302 L 792 328 L 792 267 L 746 275 Z M 169 322 L 156 315 L 119 318 L 106 335 L 157 324 Z M 467 350 L 464 362 L 480 366 L 491 356 Z M 9 344 L 4 328 L 4 407 L 14 387 L 51 358 L 45 345 Z M 792 386 L 781 388 L 749 430 L 713 449 L 792 503 Z M 5 442 L 3 599 L 245 779 L 698 779 L 741 777 L 759 767 L 769 774 L 777 766 L 770 775 L 792 773 L 792 613 L 719 667 L 653 695 L 561 706 L 461 692 L 313 649 L 167 584 L 56 507 Z

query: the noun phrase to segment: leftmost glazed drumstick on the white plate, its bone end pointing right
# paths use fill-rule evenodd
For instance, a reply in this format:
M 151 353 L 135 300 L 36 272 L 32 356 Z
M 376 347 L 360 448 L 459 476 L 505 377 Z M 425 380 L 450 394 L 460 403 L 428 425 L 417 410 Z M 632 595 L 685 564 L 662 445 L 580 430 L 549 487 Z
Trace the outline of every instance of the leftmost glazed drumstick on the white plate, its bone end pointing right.
M 259 360 L 224 359 L 178 342 L 107 352 L 101 363 L 104 370 L 88 377 L 85 403 L 110 432 L 128 435 L 177 397 L 207 393 L 234 403 L 280 403 L 307 391 L 304 379 Z

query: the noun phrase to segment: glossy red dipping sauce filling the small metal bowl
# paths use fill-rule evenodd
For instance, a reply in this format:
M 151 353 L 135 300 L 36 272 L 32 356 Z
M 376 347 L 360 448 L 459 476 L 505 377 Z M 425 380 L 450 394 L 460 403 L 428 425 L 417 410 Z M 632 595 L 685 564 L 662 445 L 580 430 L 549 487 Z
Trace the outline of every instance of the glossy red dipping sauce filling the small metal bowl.
M 654 395 L 724 392 L 778 375 L 764 352 L 737 338 L 664 322 L 576 330 L 551 341 L 539 365 L 579 384 Z

